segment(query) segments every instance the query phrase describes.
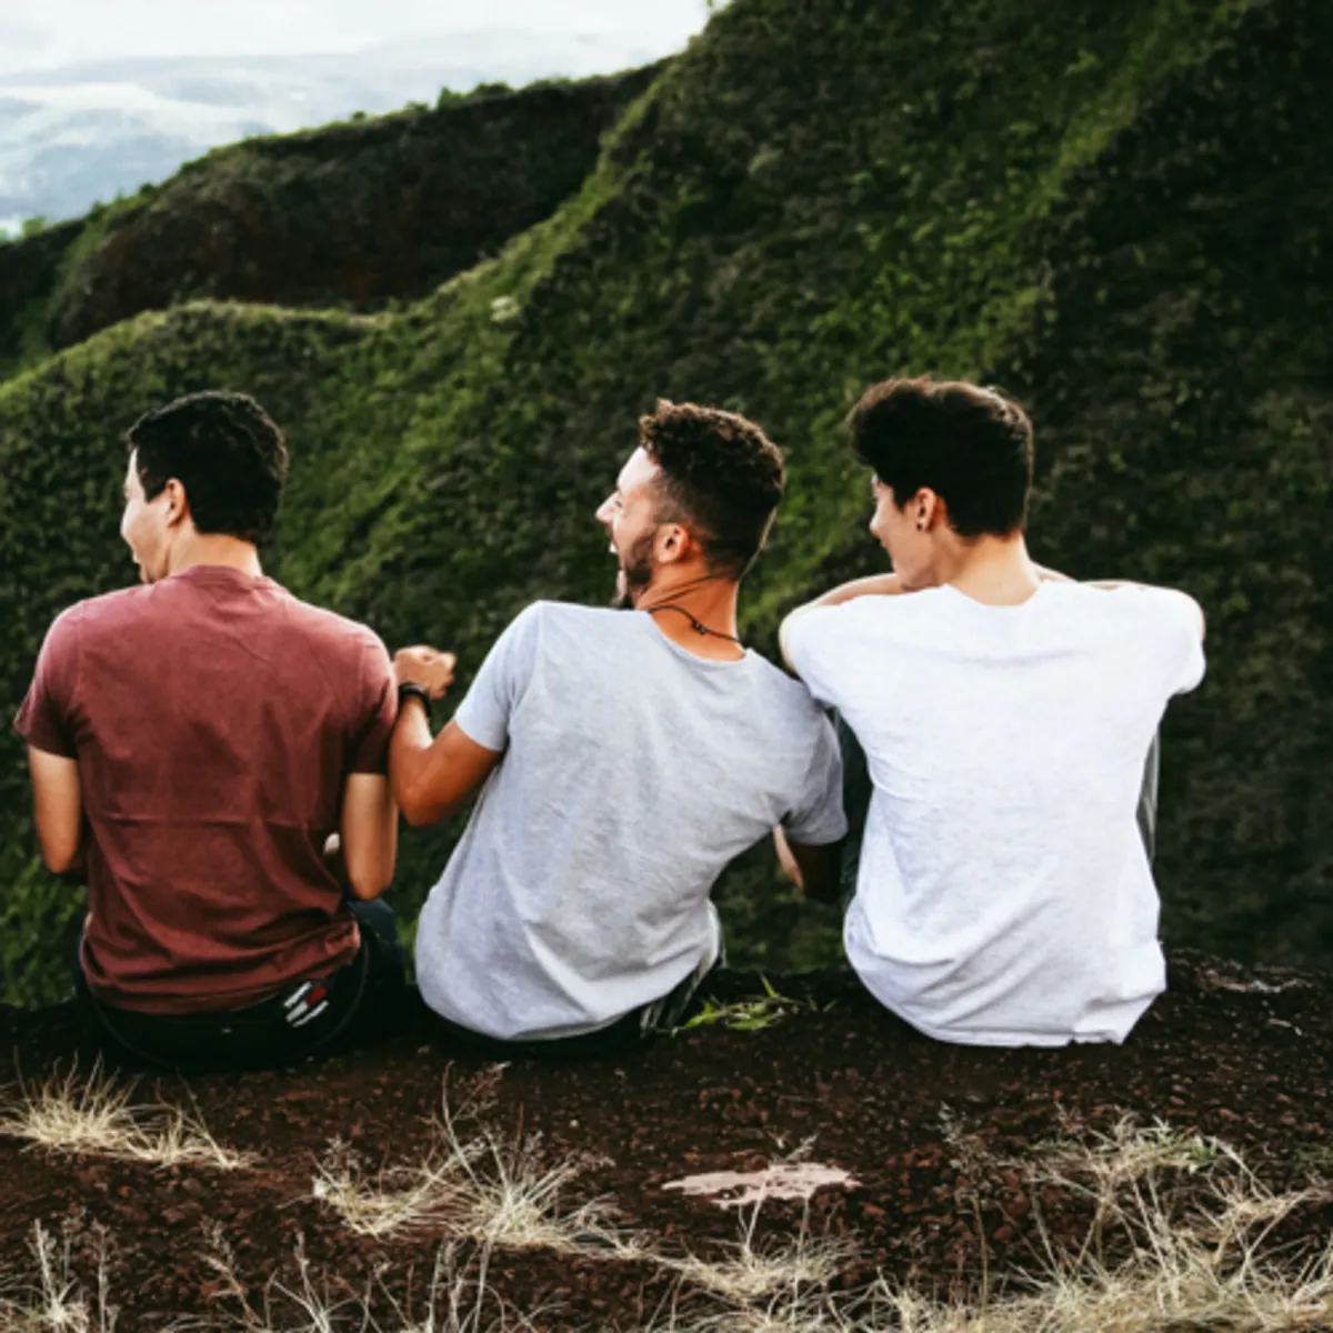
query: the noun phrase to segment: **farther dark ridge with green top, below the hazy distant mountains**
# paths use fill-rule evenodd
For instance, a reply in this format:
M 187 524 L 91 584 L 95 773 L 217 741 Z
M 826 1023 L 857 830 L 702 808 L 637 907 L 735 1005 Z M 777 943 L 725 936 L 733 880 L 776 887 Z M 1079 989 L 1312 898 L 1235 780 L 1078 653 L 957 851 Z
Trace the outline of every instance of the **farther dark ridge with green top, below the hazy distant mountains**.
M 252 139 L 0 247 L 0 373 L 197 297 L 375 309 L 425 296 L 576 193 L 660 73 L 445 92 Z

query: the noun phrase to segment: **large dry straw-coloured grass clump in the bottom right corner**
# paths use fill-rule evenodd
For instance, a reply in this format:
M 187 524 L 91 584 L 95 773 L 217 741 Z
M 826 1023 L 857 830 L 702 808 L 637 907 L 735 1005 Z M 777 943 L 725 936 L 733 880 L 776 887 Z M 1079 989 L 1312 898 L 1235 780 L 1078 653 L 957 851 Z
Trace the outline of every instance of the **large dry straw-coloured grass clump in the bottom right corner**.
M 1009 1164 L 1012 1165 L 1012 1164 Z M 1046 1145 L 1034 1186 L 1092 1200 L 1072 1252 L 997 1300 L 944 1305 L 881 1282 L 858 1329 L 893 1333 L 1316 1333 L 1333 1328 L 1333 1237 L 1293 1262 L 1273 1241 L 1317 1190 L 1274 1193 L 1225 1144 L 1157 1122 Z M 1038 1217 L 1040 1222 L 1040 1217 Z M 1108 1260 L 1114 1250 L 1116 1260 Z M 833 1325 L 837 1326 L 837 1325 Z

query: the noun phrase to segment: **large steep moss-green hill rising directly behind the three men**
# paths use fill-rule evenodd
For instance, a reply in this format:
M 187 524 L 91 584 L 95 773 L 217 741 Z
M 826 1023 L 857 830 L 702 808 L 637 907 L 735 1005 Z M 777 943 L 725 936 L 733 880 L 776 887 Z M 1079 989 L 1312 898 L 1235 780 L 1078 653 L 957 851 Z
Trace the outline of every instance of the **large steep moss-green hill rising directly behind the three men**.
M 1330 44 L 1324 0 L 734 0 L 552 217 L 415 304 L 197 301 L 0 387 L 4 697 L 60 608 L 127 581 L 117 433 L 181 392 L 247 388 L 287 427 L 277 577 L 391 643 L 456 649 L 467 676 L 529 600 L 605 599 L 592 511 L 655 396 L 750 413 L 788 451 L 744 600 L 772 647 L 793 601 L 881 561 L 840 433 L 858 389 L 978 377 L 1036 420 L 1038 557 L 1176 584 L 1209 612 L 1208 681 L 1166 725 L 1168 936 L 1326 962 Z M 173 191 L 183 217 L 209 193 Z M 369 185 L 357 199 L 392 215 Z M 283 245 L 265 253 L 297 271 Z M 95 259 L 113 287 L 111 243 Z M 179 287 L 155 291 L 215 291 L 200 263 L 183 245 Z M 5 990 L 31 1000 L 73 897 L 33 868 L 5 744 Z M 405 840 L 400 908 L 451 836 Z M 724 910 L 752 962 L 814 961 L 836 936 L 760 856 Z

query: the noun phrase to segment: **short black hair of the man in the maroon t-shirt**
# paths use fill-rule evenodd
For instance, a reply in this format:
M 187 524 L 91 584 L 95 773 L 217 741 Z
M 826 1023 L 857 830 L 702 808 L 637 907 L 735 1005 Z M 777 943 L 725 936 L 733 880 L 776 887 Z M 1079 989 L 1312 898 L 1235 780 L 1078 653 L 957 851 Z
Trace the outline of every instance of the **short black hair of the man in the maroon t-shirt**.
M 173 477 L 200 533 L 259 545 L 273 532 L 291 459 L 283 432 L 248 395 L 191 393 L 145 412 L 125 444 L 148 499 Z

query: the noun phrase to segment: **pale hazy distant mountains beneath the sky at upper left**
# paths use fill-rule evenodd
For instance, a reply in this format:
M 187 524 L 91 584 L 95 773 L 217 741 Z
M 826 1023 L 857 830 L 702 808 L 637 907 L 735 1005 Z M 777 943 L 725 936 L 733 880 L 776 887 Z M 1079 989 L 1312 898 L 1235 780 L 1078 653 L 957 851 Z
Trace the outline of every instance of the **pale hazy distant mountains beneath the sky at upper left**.
M 584 77 L 661 55 L 627 33 L 477 29 L 355 55 L 117 60 L 0 75 L 0 225 L 75 217 L 255 135 L 433 105 L 441 89 Z

